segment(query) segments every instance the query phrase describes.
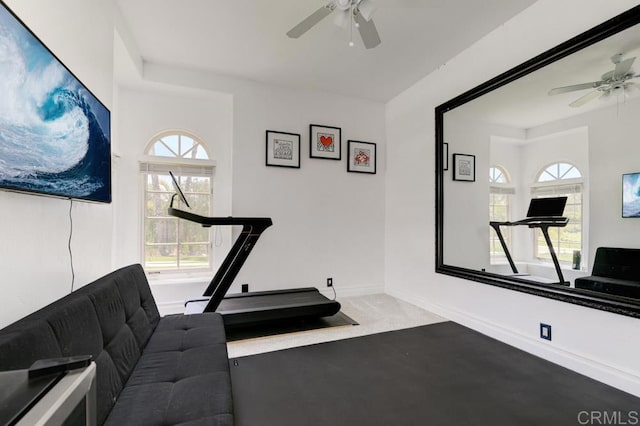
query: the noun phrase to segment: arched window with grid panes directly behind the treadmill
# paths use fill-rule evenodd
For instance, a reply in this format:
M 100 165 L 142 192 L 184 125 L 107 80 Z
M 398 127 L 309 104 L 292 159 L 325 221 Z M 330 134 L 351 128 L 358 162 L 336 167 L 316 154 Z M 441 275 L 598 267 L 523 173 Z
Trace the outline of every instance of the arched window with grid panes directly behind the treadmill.
M 169 175 L 171 171 L 189 201 L 191 211 L 211 216 L 213 167 L 203 142 L 189 132 L 163 132 L 147 144 L 144 160 L 140 163 L 144 222 L 142 258 L 147 271 L 211 269 L 210 228 L 169 216 L 167 208 L 176 192 Z

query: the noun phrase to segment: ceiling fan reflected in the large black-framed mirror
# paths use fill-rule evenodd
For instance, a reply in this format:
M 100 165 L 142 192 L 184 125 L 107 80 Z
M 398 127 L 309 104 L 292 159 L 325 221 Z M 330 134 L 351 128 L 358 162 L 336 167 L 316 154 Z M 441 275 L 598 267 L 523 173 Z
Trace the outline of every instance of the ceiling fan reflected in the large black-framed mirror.
M 549 95 L 594 89 L 569 104 L 569 106 L 577 108 L 600 97 L 607 97 L 611 94 L 624 94 L 628 90 L 638 87 L 636 83 L 629 81 L 632 78 L 640 77 L 640 74 L 634 74 L 631 70 L 631 66 L 635 60 L 635 57 L 622 60 L 622 54 L 613 55 L 611 62 L 613 62 L 615 68 L 613 71 L 602 74 L 601 80 L 574 84 L 572 86 L 556 87 L 549 91 Z

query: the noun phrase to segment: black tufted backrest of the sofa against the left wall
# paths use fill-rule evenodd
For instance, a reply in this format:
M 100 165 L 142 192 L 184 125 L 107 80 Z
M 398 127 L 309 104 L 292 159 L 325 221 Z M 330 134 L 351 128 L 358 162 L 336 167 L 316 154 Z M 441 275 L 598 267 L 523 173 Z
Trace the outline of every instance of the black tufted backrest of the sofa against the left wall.
M 102 424 L 159 320 L 142 267 L 127 266 L 0 330 L 0 370 L 91 354 Z

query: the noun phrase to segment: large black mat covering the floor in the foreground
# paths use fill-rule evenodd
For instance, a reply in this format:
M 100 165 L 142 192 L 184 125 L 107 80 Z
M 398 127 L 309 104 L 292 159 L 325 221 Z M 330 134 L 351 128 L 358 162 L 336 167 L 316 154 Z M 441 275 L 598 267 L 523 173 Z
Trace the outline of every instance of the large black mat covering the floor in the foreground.
M 237 425 L 562 426 L 640 411 L 632 395 L 452 322 L 229 362 Z

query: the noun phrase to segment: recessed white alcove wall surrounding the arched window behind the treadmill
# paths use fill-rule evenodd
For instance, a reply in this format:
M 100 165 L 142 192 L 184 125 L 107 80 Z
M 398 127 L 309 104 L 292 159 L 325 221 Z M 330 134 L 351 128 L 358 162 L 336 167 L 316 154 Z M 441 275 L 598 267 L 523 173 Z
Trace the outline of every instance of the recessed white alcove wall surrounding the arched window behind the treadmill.
M 118 248 L 114 265 L 120 267 L 142 263 L 139 165 L 147 144 L 162 131 L 188 130 L 203 141 L 210 159 L 215 161 L 213 214 L 231 215 L 233 101 L 230 95 L 212 91 L 123 87 L 118 90 L 117 109 L 120 145 L 114 151 L 118 156 L 114 163 L 117 175 L 114 235 Z M 214 247 L 216 268 L 230 247 L 230 231 L 223 230 L 220 240 L 223 244 Z M 156 303 L 162 310 L 182 309 L 185 299 L 202 295 L 212 276 L 192 273 L 176 280 L 168 275 L 169 278 L 149 277 Z

